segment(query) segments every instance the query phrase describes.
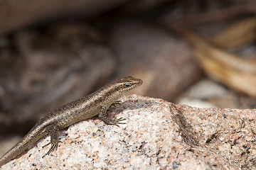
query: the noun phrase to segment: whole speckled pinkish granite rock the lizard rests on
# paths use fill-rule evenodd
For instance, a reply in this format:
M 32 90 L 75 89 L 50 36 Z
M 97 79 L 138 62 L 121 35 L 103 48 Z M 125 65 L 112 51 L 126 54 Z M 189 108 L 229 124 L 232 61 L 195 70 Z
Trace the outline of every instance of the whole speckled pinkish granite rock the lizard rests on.
M 192 108 L 137 95 L 111 106 L 119 127 L 93 118 L 60 131 L 3 169 L 256 169 L 256 110 Z

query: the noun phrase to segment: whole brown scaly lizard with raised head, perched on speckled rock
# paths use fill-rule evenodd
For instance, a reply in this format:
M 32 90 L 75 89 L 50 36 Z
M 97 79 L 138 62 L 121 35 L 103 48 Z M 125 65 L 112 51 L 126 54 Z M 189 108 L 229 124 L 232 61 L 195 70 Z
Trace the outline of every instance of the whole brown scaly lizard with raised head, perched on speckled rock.
M 34 145 L 38 140 L 46 135 L 50 135 L 50 149 L 43 156 L 50 154 L 53 149 L 58 146 L 58 131 L 67 128 L 70 125 L 78 123 L 82 120 L 87 120 L 98 115 L 98 118 L 107 125 L 124 124 L 120 121 L 124 118 L 107 117 L 107 109 L 113 103 L 119 103 L 118 99 L 124 96 L 127 91 L 130 91 L 137 86 L 142 85 L 141 79 L 134 77 L 124 77 L 112 81 L 110 84 L 103 86 L 101 89 L 80 98 L 76 101 L 65 104 L 57 108 L 45 116 L 43 116 L 36 125 L 16 144 L 9 149 L 0 158 L 0 167 L 16 158 L 23 151 Z

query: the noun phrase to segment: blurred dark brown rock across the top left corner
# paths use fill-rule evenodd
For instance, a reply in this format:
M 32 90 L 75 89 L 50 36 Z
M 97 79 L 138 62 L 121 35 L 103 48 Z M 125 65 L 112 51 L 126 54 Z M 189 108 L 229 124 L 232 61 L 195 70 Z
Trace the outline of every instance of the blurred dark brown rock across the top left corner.
M 1 0 L 0 34 L 28 26 L 31 23 L 53 21 L 56 18 L 92 16 L 113 8 L 125 0 Z

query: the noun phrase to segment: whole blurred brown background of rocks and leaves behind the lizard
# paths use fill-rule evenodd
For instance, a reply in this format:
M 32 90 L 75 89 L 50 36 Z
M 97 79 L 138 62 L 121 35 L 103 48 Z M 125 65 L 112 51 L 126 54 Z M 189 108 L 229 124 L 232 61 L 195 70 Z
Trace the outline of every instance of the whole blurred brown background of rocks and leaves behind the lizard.
M 0 2 L 0 154 L 46 113 L 118 77 L 132 94 L 255 108 L 256 1 Z

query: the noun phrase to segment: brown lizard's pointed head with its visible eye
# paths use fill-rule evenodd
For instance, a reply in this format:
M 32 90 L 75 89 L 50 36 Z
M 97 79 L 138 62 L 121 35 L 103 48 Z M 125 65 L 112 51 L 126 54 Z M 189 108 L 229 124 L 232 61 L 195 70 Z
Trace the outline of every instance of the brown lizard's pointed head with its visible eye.
M 132 90 L 140 85 L 142 85 L 141 79 L 136 79 L 134 77 L 124 77 L 121 79 L 117 79 L 116 88 L 119 93 L 124 94 L 125 92 Z

